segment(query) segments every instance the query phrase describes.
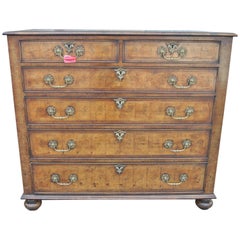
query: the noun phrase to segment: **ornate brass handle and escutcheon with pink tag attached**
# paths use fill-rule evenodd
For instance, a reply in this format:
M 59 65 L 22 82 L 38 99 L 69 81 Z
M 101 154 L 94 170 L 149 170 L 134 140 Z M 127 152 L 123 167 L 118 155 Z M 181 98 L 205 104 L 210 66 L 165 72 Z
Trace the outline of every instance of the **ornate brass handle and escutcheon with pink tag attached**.
M 63 49 L 65 48 L 65 50 Z M 63 47 L 57 45 L 54 47 L 53 52 L 56 56 L 63 58 L 64 63 L 74 63 L 77 61 L 78 57 L 81 57 L 85 54 L 85 48 L 83 45 L 75 46 L 74 42 L 63 43 Z M 66 52 L 67 54 L 64 54 Z M 70 54 L 75 53 L 75 56 Z

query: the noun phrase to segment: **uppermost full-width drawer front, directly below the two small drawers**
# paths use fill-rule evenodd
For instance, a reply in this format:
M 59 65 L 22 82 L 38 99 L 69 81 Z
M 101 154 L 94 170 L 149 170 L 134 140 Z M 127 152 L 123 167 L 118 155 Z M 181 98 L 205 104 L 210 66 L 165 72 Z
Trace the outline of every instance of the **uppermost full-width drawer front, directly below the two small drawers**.
M 216 69 L 23 68 L 27 91 L 214 91 Z

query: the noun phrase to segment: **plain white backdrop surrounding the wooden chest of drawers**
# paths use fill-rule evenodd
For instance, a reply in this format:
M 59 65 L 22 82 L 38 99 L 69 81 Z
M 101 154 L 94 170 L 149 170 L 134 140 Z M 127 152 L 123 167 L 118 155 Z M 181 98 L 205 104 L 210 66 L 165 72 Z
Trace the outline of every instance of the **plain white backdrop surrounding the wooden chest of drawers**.
M 0 32 L 32 28 L 201 30 L 239 33 L 238 1 L 2 1 Z M 22 194 L 7 39 L 0 36 L 0 239 L 240 239 L 240 40 L 234 39 L 213 207 L 193 200 L 43 201 Z

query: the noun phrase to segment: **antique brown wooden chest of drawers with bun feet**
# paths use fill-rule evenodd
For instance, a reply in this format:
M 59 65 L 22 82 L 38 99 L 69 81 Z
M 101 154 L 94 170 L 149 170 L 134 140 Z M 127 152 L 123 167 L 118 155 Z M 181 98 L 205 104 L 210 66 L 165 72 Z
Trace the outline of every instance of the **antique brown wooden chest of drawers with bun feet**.
M 7 32 L 25 206 L 212 206 L 232 33 Z

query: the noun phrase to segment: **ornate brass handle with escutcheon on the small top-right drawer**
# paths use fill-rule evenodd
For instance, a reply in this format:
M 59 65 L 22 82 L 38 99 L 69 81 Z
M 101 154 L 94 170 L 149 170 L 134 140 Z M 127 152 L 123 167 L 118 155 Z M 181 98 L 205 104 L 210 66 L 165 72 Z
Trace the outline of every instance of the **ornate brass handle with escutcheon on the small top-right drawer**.
M 177 60 L 187 54 L 187 50 L 176 42 L 166 43 L 166 47 L 161 46 L 157 49 L 157 54 L 165 60 Z

